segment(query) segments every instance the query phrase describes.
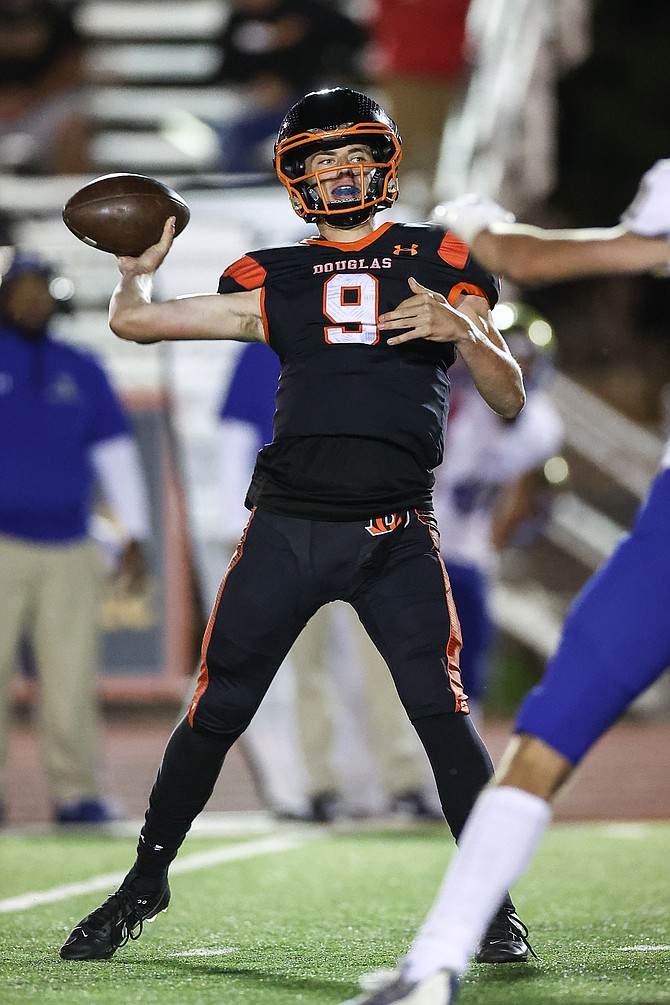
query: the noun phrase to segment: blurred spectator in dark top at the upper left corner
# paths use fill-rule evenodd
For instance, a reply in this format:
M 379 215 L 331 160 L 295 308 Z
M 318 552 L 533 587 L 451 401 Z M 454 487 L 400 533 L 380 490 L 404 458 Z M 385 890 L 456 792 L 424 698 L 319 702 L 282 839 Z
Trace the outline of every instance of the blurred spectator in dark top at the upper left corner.
M 0 165 L 7 169 L 87 169 L 83 45 L 74 9 L 56 0 L 0 5 Z

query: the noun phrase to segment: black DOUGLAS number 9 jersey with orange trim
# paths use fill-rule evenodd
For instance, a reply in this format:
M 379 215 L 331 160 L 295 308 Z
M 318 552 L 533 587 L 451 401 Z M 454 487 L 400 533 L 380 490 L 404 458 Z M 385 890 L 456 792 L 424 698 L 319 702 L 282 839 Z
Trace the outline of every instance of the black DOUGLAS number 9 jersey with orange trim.
M 307 238 L 251 252 L 224 271 L 220 293 L 261 289 L 265 337 L 281 363 L 277 448 L 298 437 L 347 437 L 388 444 L 426 472 L 440 463 L 455 348 L 425 340 L 389 346 L 399 333 L 377 327 L 412 295 L 410 276 L 450 303 L 461 292 L 491 307 L 498 298 L 497 280 L 468 247 L 431 224 L 386 223 L 352 244 Z M 336 477 L 337 509 L 351 491 Z

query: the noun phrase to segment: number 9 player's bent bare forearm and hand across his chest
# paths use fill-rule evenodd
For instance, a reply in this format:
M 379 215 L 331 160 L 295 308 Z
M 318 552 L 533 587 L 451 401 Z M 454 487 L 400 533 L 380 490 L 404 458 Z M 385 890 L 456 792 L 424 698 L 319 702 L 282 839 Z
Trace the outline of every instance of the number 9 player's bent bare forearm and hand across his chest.
M 486 404 L 506 419 L 518 415 L 525 402 L 521 370 L 493 324 L 486 298 L 461 294 L 452 307 L 442 293 L 409 280 L 412 296 L 382 315 L 379 327 L 393 332 L 390 346 L 416 339 L 453 342 Z

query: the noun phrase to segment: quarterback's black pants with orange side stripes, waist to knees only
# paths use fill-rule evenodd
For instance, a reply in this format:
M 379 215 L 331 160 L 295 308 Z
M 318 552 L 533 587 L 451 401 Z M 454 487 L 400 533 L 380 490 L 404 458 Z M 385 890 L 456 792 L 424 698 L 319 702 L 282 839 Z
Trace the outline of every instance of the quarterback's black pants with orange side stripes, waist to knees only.
M 460 627 L 433 518 L 393 518 L 386 530 L 255 511 L 207 627 L 192 725 L 245 729 L 297 635 L 333 600 L 356 609 L 410 719 L 460 707 Z

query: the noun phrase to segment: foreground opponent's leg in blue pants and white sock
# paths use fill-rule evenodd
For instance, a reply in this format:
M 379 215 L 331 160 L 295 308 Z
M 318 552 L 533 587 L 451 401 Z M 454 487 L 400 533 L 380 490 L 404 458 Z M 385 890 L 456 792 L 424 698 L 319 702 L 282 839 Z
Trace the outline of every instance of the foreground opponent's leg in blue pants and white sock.
M 519 711 L 516 729 L 526 732 L 510 743 L 497 786 L 478 799 L 405 962 L 404 976 L 414 986 L 445 968 L 453 975 L 467 968 L 500 890 L 531 860 L 550 801 L 586 752 L 670 663 L 669 495 L 666 470 L 631 535 L 577 598 L 547 672 Z M 374 999 L 362 998 L 360 1005 Z

